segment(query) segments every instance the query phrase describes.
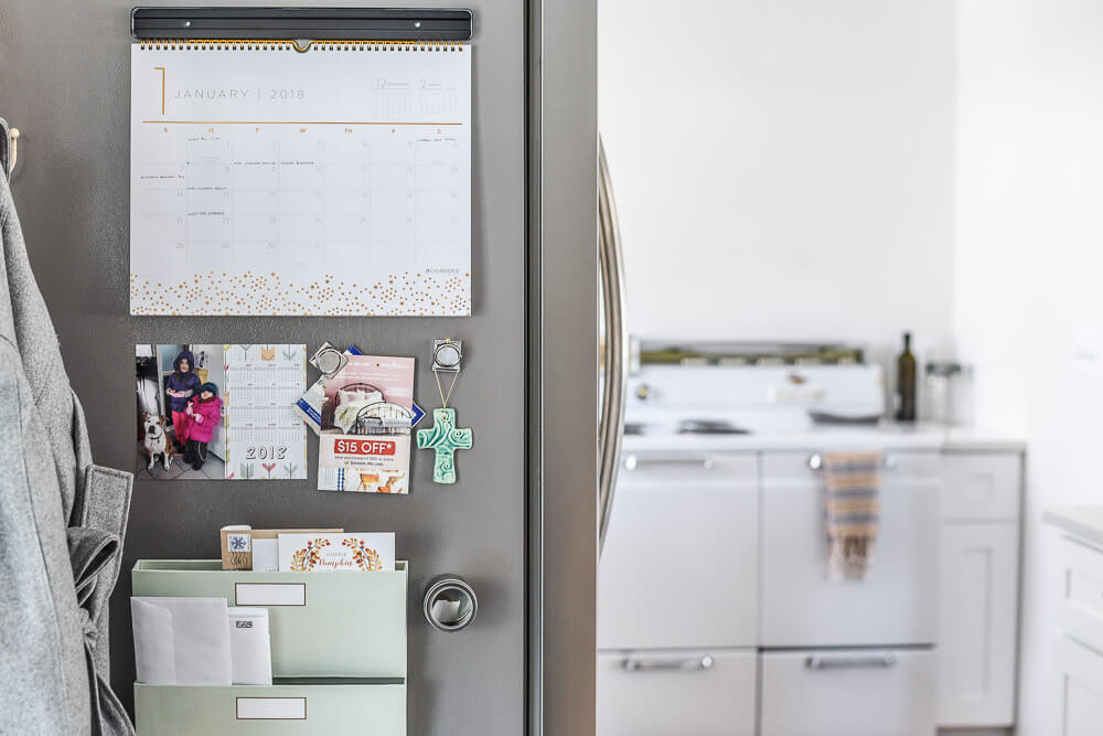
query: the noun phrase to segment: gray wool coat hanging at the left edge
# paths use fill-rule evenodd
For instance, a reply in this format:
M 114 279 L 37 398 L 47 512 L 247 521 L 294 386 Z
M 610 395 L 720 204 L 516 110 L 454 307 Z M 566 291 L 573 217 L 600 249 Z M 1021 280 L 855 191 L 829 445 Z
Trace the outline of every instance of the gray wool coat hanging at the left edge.
M 0 246 L 0 734 L 132 734 L 108 684 L 107 600 L 133 478 L 92 462 L 6 175 Z

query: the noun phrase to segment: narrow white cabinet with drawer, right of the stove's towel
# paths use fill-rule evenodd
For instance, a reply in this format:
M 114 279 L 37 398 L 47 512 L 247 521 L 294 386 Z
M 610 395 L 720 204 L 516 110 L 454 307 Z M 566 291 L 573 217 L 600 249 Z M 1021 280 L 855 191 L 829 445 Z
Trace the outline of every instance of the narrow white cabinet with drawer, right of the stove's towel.
M 1015 723 L 1021 455 L 943 457 L 939 725 Z

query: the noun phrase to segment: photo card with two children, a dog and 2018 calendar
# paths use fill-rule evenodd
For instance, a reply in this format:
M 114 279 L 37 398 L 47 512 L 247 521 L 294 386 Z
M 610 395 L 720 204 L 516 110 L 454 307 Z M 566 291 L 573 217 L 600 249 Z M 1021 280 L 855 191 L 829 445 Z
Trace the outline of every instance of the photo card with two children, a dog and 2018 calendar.
M 138 477 L 307 477 L 306 345 L 135 346 Z

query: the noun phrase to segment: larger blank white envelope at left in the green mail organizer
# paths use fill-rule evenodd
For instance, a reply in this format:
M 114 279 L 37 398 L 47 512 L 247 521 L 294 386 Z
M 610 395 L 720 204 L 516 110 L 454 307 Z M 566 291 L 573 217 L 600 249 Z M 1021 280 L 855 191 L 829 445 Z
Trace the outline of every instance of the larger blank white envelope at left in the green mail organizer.
M 225 598 L 130 599 L 138 682 L 229 685 Z

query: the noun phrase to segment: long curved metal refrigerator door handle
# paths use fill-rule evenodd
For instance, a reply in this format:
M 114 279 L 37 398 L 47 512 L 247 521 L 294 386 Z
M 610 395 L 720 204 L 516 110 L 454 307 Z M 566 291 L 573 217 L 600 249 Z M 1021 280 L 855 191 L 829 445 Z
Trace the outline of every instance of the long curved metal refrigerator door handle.
M 598 423 L 598 552 L 604 547 L 606 531 L 617 490 L 621 439 L 624 436 L 624 384 L 628 381 L 629 341 L 624 320 L 624 271 L 613 201 L 612 179 L 606 149 L 598 138 L 598 265 L 601 271 L 602 311 L 606 322 L 604 371 L 601 418 Z

